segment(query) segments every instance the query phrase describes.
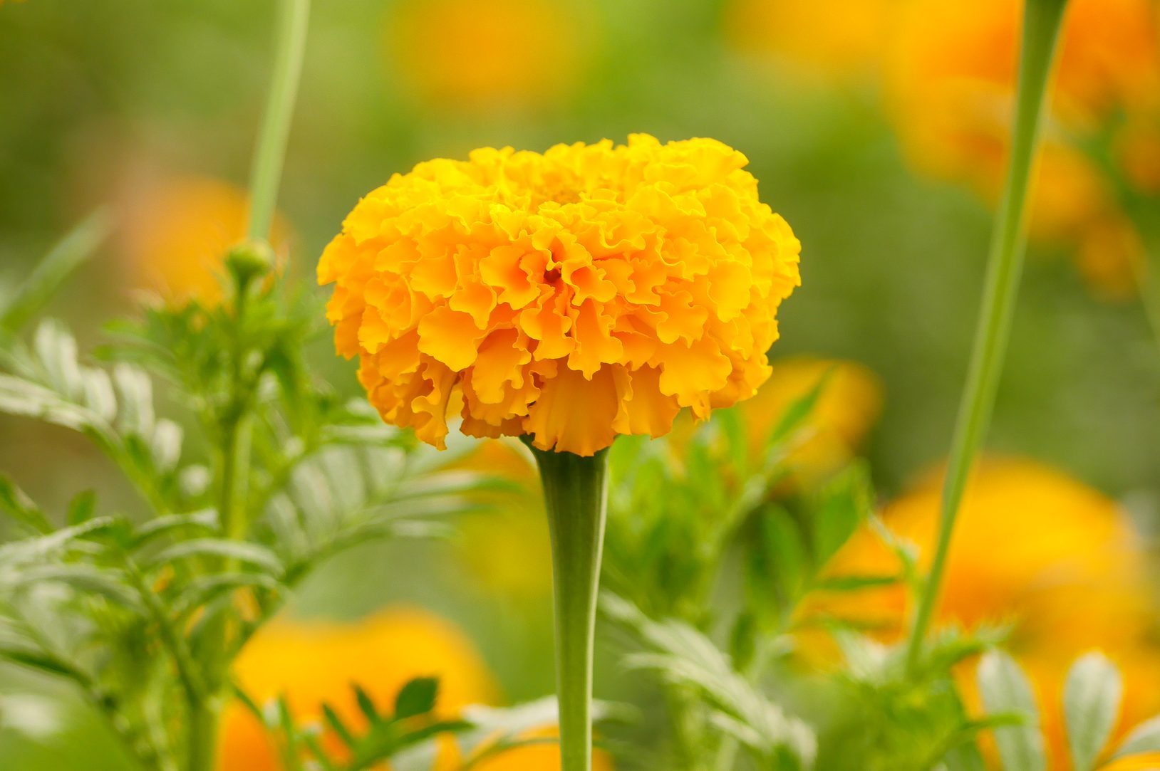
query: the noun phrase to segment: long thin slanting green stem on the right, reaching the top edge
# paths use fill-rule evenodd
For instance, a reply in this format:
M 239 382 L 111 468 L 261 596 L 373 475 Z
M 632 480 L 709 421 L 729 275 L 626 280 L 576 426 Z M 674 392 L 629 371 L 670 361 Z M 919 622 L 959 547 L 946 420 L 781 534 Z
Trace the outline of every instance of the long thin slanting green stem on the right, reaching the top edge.
M 974 334 L 966 386 L 951 442 L 940 508 L 938 541 L 930 575 L 919 598 L 907 647 L 907 665 L 918 665 L 922 642 L 938 602 L 947 554 L 963 490 L 983 444 L 995 402 L 999 374 L 1010 336 L 1012 313 L 1027 246 L 1027 192 L 1039 140 L 1043 104 L 1067 0 L 1027 0 L 1015 125 L 1003 196 L 987 263 L 983 310 Z

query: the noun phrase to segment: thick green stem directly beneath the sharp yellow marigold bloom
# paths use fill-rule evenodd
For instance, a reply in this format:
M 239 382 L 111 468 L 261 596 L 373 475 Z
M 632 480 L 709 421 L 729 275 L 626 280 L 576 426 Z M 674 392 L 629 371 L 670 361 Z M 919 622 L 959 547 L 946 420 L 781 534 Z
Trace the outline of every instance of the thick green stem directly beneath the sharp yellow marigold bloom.
M 556 692 L 563 771 L 592 769 L 592 654 L 608 509 L 608 450 L 585 458 L 532 449 L 552 536 Z

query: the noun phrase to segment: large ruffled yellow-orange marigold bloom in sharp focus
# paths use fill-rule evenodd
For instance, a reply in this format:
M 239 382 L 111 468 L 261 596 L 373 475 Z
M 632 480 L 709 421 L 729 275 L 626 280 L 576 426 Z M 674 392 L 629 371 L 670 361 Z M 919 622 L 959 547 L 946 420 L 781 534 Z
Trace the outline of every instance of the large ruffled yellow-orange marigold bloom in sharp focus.
M 800 245 L 712 139 L 485 148 L 394 175 L 318 266 L 339 352 L 390 423 L 582 456 L 769 376 Z

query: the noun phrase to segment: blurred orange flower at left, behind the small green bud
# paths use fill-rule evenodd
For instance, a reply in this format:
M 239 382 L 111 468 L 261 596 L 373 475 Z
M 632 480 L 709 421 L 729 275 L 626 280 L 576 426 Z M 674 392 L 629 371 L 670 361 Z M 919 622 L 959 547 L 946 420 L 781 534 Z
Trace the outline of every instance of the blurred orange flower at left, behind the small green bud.
M 118 243 L 133 286 L 169 301 L 222 299 L 224 259 L 246 235 L 247 195 L 206 176 L 172 176 L 132 187 L 122 201 Z M 270 241 L 285 253 L 288 228 Z

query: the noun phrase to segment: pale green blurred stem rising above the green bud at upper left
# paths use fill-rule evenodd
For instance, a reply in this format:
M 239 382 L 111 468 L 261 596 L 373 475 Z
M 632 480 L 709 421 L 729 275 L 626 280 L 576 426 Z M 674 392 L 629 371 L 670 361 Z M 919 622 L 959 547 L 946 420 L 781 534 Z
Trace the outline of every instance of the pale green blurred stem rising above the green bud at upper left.
M 282 181 L 290 117 L 298 95 L 302 60 L 306 49 L 310 0 L 281 0 L 274 52 L 274 77 L 266 100 L 262 128 L 258 133 L 254 165 L 249 176 L 249 227 L 253 240 L 269 238 L 274 205 Z

